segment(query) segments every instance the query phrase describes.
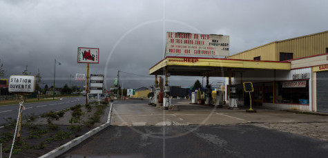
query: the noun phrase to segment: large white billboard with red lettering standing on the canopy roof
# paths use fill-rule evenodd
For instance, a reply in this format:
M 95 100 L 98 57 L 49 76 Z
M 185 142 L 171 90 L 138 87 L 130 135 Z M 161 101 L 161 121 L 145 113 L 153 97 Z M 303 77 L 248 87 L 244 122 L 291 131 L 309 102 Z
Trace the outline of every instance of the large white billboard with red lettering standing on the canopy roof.
M 165 53 L 183 56 L 229 56 L 229 36 L 167 32 Z

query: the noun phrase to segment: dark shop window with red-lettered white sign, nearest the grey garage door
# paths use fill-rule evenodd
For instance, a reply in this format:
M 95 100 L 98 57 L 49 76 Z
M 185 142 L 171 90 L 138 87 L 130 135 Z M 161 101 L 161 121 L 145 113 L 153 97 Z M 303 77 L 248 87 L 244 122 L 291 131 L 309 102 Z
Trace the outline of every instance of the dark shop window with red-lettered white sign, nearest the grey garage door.
M 309 80 L 276 82 L 276 103 L 309 104 Z

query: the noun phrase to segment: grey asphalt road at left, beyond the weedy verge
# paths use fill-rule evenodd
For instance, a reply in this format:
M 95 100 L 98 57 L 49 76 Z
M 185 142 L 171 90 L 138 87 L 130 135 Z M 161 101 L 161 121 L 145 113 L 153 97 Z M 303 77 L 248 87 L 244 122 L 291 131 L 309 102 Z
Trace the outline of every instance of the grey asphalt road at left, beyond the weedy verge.
M 23 111 L 24 115 L 41 115 L 48 111 L 60 111 L 66 109 L 70 106 L 75 106 L 76 104 L 85 104 L 86 97 L 72 97 L 72 98 L 62 98 L 61 100 L 48 101 L 48 102 L 36 102 L 23 104 L 26 108 Z M 8 122 L 4 118 L 12 117 L 12 119 L 17 119 L 19 111 L 19 104 L 0 106 L 0 124 L 7 124 Z

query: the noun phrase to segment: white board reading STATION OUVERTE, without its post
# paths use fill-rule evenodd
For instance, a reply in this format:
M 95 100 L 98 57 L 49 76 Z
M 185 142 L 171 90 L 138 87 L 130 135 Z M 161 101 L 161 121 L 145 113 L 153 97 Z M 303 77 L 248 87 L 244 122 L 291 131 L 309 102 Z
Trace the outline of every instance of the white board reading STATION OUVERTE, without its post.
M 33 93 L 35 76 L 10 76 L 8 91 L 10 93 Z

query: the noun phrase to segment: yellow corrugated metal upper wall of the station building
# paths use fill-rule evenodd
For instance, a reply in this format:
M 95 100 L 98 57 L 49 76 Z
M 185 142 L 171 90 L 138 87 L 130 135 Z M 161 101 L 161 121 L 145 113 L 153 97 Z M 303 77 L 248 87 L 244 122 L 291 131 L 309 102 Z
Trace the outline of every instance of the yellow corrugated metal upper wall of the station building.
M 328 47 L 328 31 L 317 34 L 310 34 L 284 41 L 278 41 L 249 49 L 230 56 L 232 59 L 253 60 L 254 57 L 261 56 L 261 60 L 280 60 L 280 52 L 293 53 L 293 58 L 302 58 L 318 54 L 325 54 Z

